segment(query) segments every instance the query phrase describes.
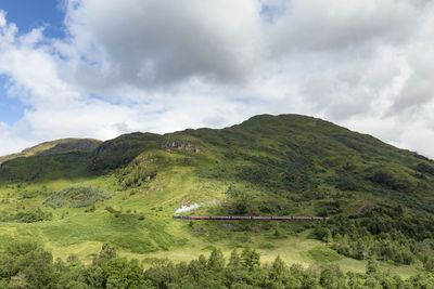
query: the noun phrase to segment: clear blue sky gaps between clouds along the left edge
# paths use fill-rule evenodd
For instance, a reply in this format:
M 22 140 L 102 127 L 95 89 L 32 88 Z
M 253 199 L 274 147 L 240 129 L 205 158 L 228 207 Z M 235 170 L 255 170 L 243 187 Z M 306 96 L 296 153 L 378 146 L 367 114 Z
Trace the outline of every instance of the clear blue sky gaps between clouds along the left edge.
M 18 34 L 44 27 L 49 38 L 64 38 L 64 10 L 59 0 L 1 0 L 0 10 L 7 12 L 8 22 L 15 23 Z M 25 106 L 16 97 L 8 95 L 10 78 L 0 75 L 0 121 L 13 124 L 23 117 Z

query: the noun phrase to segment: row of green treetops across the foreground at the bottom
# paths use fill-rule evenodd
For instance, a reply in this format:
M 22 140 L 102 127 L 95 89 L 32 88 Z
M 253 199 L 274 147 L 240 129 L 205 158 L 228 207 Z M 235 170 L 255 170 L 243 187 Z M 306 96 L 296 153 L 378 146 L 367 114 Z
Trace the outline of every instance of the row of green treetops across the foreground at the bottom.
M 104 245 L 92 264 L 76 255 L 53 262 L 51 253 L 35 242 L 18 242 L 0 254 L 1 288 L 433 288 L 434 272 L 407 280 L 379 270 L 370 261 L 366 274 L 344 274 L 339 266 L 289 266 L 280 257 L 261 264 L 246 247 L 227 260 L 219 249 L 190 263 L 155 260 L 143 268 L 137 260 L 118 258 Z

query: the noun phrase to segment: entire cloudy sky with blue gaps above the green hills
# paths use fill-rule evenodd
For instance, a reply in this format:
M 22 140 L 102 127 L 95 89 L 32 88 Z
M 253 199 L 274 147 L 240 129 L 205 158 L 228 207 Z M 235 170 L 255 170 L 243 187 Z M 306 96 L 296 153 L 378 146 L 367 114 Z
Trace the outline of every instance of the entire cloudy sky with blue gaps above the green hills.
M 0 0 L 0 155 L 322 118 L 434 158 L 432 0 Z

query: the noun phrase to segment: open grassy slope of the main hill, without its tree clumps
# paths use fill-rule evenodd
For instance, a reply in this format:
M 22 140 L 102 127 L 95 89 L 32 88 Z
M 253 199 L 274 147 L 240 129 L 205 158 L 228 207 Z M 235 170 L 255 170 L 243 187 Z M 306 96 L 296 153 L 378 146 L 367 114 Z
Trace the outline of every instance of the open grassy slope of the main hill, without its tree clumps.
M 69 153 L 5 163 L 0 169 L 0 212 L 42 208 L 53 218 L 30 224 L 0 223 L 4 232 L 0 248 L 16 238 L 35 238 L 55 257 L 76 253 L 89 261 L 108 241 L 123 254 L 150 262 L 162 257 L 190 260 L 208 252 L 210 246 L 228 254 L 233 248 L 252 245 L 264 261 L 277 254 L 305 265 L 332 260 L 344 270 L 362 272 L 365 261 L 330 257 L 328 248 L 310 237 L 309 223 L 222 226 L 224 222 L 200 222 L 190 226 L 170 216 L 194 202 L 205 205 L 197 214 L 233 213 L 224 194 L 230 186 L 248 193 L 245 213 L 318 214 L 326 210 L 349 215 L 363 201 L 410 203 L 408 210 L 427 213 L 434 179 L 431 174 L 414 176 L 420 163 L 432 166 L 414 153 L 372 136 L 294 115 L 258 116 L 224 130 L 123 135 L 101 144 L 97 156 Z M 392 179 L 384 183 L 372 178 L 376 171 Z M 50 193 L 69 185 L 100 187 L 113 197 L 98 202 L 93 212 L 43 206 Z M 343 205 L 333 212 L 330 203 L 336 200 Z M 110 213 L 107 206 L 122 213 Z M 145 220 L 139 220 L 140 215 Z M 276 237 L 276 229 L 282 236 Z M 419 270 L 418 264 L 383 266 L 403 276 Z

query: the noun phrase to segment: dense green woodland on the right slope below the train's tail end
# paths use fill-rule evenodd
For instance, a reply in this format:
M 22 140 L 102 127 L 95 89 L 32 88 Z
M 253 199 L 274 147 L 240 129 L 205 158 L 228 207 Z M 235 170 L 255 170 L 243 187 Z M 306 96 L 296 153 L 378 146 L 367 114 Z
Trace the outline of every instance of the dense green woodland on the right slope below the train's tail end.
M 332 218 L 315 234 L 336 252 L 358 260 L 375 258 L 397 264 L 418 259 L 427 270 L 434 263 L 433 219 L 408 215 L 398 208 L 373 208 L 363 215 Z

